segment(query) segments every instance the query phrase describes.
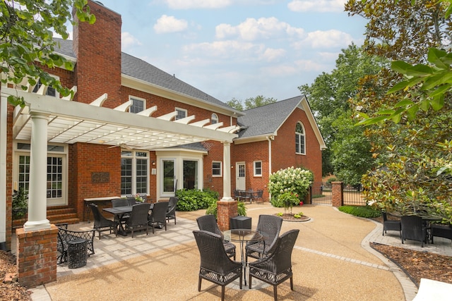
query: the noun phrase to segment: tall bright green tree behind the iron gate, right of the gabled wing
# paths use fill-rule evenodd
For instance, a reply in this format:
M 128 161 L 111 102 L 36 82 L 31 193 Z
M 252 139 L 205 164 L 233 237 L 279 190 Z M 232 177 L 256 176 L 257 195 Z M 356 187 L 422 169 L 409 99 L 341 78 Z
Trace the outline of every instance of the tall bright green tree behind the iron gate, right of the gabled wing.
M 369 142 L 353 144 L 355 149 L 351 145 L 340 147 L 340 143 L 366 140 L 363 130 L 355 130 L 350 122 L 353 111 L 349 101 L 357 94 L 359 79 L 378 73 L 383 65 L 383 60 L 367 55 L 362 48 L 351 44 L 338 56 L 336 68 L 331 73 L 322 73 L 312 85 L 299 87 L 307 95 L 326 142 L 327 149 L 322 152 L 323 175 L 335 173 L 342 175 L 341 180 L 355 184 L 372 166 Z M 338 139 L 343 141 L 335 143 Z M 357 158 L 360 166 L 355 164 Z

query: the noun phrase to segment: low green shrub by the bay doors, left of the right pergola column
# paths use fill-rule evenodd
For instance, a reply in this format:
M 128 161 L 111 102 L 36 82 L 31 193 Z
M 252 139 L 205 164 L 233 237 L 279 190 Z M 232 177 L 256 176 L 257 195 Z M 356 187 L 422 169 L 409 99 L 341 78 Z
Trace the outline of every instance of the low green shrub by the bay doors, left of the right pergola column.
M 215 197 L 215 195 L 217 195 Z M 177 202 L 177 210 L 179 211 L 195 211 L 198 209 L 207 209 L 211 204 L 218 201 L 218 192 L 212 190 L 177 190 L 176 197 L 179 199 Z

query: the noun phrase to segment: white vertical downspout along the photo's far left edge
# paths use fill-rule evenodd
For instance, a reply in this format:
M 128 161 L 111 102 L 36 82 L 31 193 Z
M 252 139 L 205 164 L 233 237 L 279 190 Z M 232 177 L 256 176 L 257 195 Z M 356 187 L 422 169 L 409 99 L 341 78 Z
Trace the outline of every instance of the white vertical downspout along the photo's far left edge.
M 1 90 L 1 87 L 0 87 Z M 0 250 L 6 250 L 6 97 L 0 98 Z

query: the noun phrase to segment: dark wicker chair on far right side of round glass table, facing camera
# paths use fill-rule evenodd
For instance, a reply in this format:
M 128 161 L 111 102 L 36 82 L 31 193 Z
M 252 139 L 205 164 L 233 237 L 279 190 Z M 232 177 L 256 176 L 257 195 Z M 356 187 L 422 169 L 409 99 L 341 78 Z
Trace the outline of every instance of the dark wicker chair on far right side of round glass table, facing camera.
M 248 242 L 245 247 L 245 262 L 248 257 L 261 258 L 273 252 L 276 240 L 280 235 L 283 219 L 275 215 L 261 214 L 258 219 L 256 231 L 266 235 L 266 240 L 259 242 Z

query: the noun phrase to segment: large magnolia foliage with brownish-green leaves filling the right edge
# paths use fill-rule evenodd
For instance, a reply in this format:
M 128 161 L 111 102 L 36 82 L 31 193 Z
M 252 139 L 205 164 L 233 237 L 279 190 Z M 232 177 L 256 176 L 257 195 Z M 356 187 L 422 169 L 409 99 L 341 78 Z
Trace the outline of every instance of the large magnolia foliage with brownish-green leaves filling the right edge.
M 393 59 L 362 82 L 355 106 L 368 125 L 380 168 L 364 178 L 370 202 L 403 214 L 427 212 L 452 223 L 451 59 L 440 50 L 450 42 L 452 1 L 349 1 L 349 11 L 366 11 L 368 28 L 390 11 L 388 28 L 367 32 L 369 51 Z M 422 17 L 422 18 L 421 18 Z M 411 20 L 420 18 L 413 24 Z M 408 20 L 408 22 L 406 22 Z M 407 24 L 405 24 L 407 23 Z M 411 30 L 407 30 L 410 28 Z M 422 32 L 422 35 L 419 33 Z M 380 44 L 374 40 L 381 41 Z

